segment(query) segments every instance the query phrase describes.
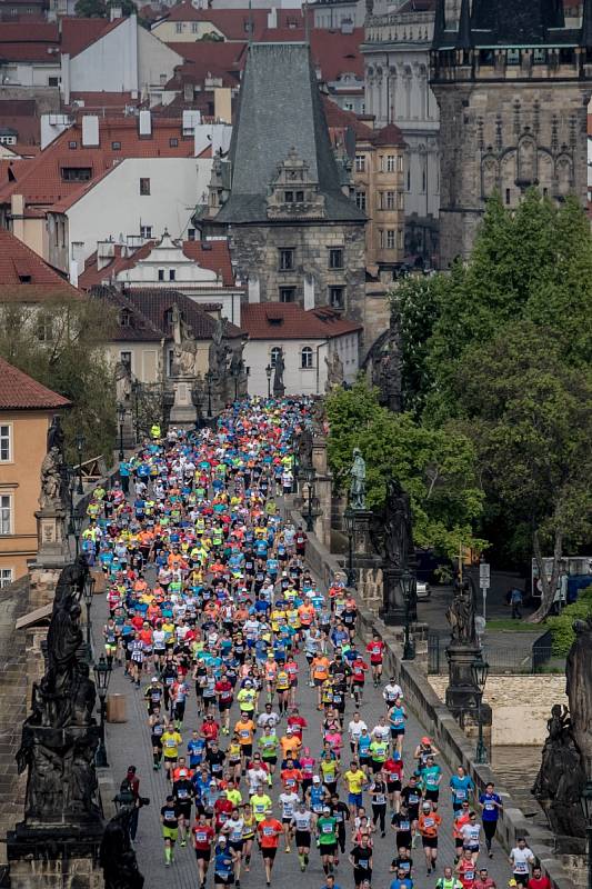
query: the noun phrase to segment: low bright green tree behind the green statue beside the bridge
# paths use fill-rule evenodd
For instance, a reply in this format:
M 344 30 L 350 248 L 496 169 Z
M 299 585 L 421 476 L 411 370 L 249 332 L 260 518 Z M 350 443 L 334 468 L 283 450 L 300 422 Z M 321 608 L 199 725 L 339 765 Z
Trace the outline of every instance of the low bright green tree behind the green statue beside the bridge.
M 409 413 L 395 414 L 378 403 L 377 391 L 359 381 L 327 398 L 330 424 L 328 457 L 338 489 L 349 485 L 353 448 L 367 463 L 369 507 L 384 502 L 394 476 L 409 492 L 415 543 L 458 553 L 460 543 L 482 548 L 473 525 L 482 510 L 470 439 L 454 430 L 419 426 Z

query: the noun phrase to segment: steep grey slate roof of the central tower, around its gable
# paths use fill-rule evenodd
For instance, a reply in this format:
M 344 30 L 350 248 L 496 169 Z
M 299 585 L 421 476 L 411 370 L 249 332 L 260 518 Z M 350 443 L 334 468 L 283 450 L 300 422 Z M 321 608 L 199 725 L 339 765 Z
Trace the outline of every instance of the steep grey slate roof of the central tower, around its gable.
M 230 144 L 232 189 L 215 221 L 267 221 L 269 187 L 292 149 L 325 197 L 327 219 L 364 218 L 340 188 L 309 46 L 251 43 Z

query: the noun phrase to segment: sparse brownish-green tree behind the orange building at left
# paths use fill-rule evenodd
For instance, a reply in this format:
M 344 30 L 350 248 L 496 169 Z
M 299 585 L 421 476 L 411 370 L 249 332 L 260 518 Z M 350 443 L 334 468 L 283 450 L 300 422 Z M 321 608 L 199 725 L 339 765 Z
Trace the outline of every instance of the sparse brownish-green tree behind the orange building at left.
M 104 350 L 113 322 L 100 300 L 56 299 L 42 311 L 8 304 L 0 324 L 0 354 L 33 379 L 69 398 L 63 429 L 68 459 L 77 462 L 74 438 L 86 456 L 111 460 L 116 439 L 114 376 Z

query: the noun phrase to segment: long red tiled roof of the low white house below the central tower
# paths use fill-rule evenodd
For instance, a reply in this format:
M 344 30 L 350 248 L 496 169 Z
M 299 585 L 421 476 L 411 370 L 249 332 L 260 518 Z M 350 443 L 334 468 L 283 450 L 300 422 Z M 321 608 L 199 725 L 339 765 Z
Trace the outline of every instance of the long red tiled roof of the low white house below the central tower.
M 362 324 L 340 318 L 332 309 L 304 310 L 295 302 L 243 306 L 241 327 L 252 340 L 324 340 L 362 330 Z

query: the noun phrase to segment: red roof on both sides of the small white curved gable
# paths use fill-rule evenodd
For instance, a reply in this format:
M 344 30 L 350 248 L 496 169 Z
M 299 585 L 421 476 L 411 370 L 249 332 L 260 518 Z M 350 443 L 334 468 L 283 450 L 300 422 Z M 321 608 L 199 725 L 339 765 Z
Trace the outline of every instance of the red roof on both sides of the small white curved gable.
M 84 290 L 90 290 L 91 287 L 97 287 L 106 280 L 111 280 L 127 269 L 133 269 L 141 259 L 146 259 L 150 254 L 155 244 L 157 241 L 147 241 L 138 250 L 134 250 L 131 256 L 126 254 L 127 250 L 126 248 L 122 249 L 121 244 L 114 244 L 114 257 L 102 269 L 97 268 L 97 252 L 94 252 L 87 259 L 84 271 L 78 281 L 80 287 Z M 221 272 L 224 287 L 234 287 L 234 273 L 230 261 L 228 241 L 183 241 L 182 249 L 188 259 L 192 259 L 203 269 L 210 269 L 210 271 L 217 273 Z

